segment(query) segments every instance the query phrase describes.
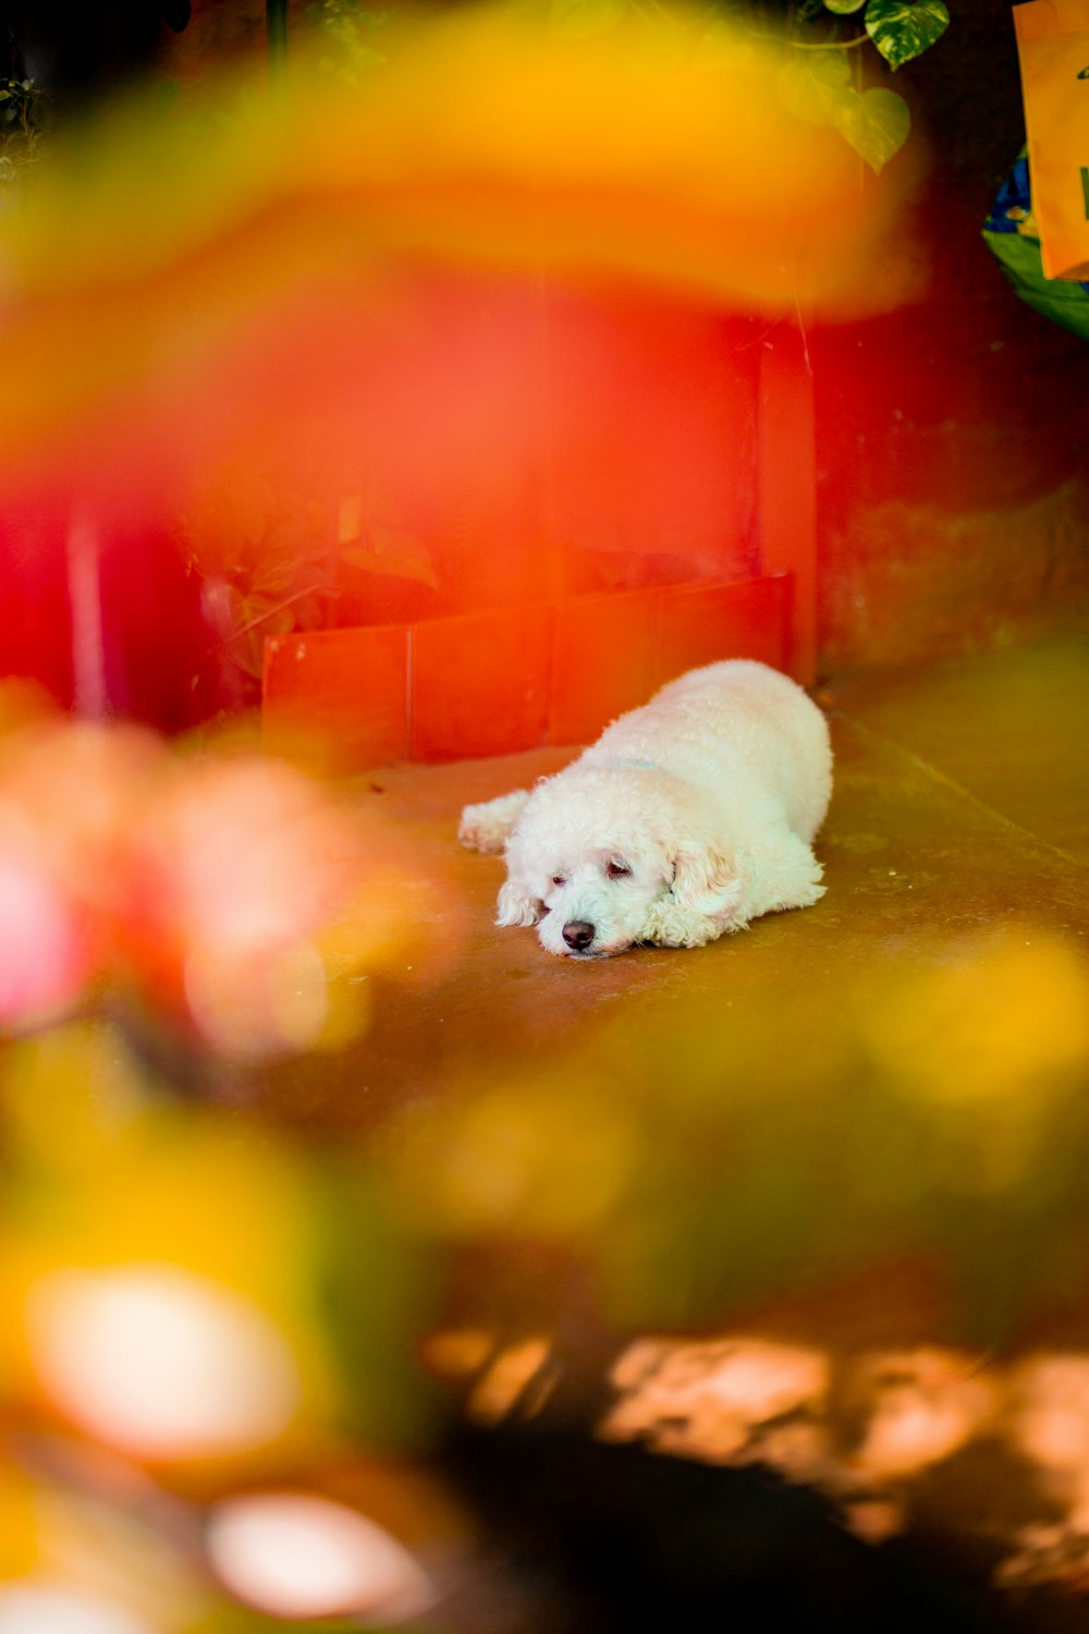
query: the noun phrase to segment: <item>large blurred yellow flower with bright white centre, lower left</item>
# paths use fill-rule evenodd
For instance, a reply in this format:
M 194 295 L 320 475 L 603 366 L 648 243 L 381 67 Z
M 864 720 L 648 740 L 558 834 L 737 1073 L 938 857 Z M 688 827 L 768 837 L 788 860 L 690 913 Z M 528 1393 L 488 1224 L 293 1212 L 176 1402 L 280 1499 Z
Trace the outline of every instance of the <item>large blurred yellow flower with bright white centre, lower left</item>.
M 47 1075 L 33 1082 L 49 1105 Z M 320 1209 L 302 1165 L 207 1114 L 144 1109 L 93 1167 L 49 1165 L 41 1119 L 15 1127 L 33 1144 L 11 1154 L 21 1186 L 0 1245 L 8 1395 L 150 1461 L 260 1453 L 327 1420 Z M 67 1136 L 54 1126 L 54 1144 Z

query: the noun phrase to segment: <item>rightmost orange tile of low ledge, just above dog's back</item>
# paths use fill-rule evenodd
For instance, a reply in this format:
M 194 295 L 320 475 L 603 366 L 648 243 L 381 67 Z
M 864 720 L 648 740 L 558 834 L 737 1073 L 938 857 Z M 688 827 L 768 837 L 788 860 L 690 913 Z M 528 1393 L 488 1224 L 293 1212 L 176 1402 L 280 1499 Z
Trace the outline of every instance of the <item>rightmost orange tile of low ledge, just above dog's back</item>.
M 717 659 L 759 659 L 785 668 L 792 592 L 789 574 L 746 578 L 735 585 L 660 590 L 651 686 Z

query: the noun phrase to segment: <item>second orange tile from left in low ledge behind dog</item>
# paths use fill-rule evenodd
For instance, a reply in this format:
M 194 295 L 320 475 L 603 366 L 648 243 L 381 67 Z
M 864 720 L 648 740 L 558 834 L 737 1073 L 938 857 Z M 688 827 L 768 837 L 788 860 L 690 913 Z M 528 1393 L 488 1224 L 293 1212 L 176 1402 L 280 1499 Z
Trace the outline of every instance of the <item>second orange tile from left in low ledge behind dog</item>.
M 411 631 L 411 758 L 513 755 L 545 739 L 552 609 L 501 608 Z

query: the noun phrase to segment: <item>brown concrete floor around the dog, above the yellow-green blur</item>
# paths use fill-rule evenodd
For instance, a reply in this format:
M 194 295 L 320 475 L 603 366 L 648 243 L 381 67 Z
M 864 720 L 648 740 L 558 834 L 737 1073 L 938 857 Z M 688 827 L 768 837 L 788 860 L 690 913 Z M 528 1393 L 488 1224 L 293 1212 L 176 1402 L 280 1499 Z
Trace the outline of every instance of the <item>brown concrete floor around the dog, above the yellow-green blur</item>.
M 462 851 L 469 801 L 526 786 L 562 766 L 565 750 L 488 761 L 389 766 L 359 781 L 364 814 L 410 846 L 416 900 L 431 928 L 411 980 L 376 1002 L 366 1044 L 325 1113 L 367 1123 L 367 1093 L 403 1103 L 431 1095 L 480 1059 L 519 1070 L 578 1051 L 602 1021 L 640 1016 L 669 1034 L 676 1010 L 741 1002 L 769 1021 L 798 993 L 836 1005 L 860 972 L 895 959 L 931 961 L 957 935 L 1027 917 L 1081 943 L 1089 930 L 1089 642 L 875 673 L 825 690 L 836 788 L 818 851 L 826 897 L 740 936 L 691 951 L 640 949 L 602 962 L 544 954 L 529 930 L 496 930 L 496 858 Z M 426 936 L 424 936 L 426 941 Z M 407 959 L 415 958 L 408 954 Z M 774 1028 L 767 1047 L 776 1049 Z

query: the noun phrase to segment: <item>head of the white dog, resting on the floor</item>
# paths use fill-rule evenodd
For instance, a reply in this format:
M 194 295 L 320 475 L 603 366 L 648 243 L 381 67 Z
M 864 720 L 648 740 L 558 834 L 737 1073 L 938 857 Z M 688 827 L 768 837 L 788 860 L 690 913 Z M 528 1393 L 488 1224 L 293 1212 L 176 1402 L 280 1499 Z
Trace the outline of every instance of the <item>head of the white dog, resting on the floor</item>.
M 699 791 L 658 768 L 575 766 L 540 783 L 506 846 L 498 925 L 604 958 L 640 941 L 699 946 L 741 895 Z

